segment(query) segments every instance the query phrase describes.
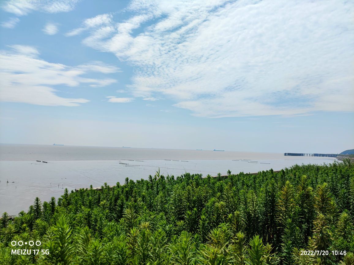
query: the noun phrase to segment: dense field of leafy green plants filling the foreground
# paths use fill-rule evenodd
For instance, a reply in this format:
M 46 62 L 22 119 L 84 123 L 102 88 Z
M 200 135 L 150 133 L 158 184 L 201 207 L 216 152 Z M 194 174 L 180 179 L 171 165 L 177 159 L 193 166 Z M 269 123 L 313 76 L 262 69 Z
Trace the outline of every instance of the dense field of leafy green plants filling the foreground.
M 2 215 L 1 264 L 354 264 L 354 162 L 126 178 Z M 12 247 L 11 241 L 41 241 Z M 11 249 L 49 255 L 11 255 Z M 329 255 L 301 255 L 301 250 Z M 346 251 L 333 255 L 332 251 Z

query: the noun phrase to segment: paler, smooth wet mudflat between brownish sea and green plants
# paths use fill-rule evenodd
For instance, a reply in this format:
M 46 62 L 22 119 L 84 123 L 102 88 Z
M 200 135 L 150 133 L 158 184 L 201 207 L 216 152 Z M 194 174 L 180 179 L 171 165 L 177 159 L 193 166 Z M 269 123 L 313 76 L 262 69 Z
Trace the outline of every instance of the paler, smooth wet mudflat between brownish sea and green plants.
M 130 148 L 129 148 L 130 149 Z M 273 169 L 281 170 L 298 164 L 333 163 L 333 158 L 298 158 L 251 161 L 228 160 L 189 160 L 166 161 L 0 161 L 0 211 L 16 214 L 27 209 L 33 199 L 39 195 L 41 201 L 49 201 L 52 196 L 59 197 L 65 188 L 69 191 L 90 187 L 101 187 L 103 183 L 115 185 L 124 183 L 129 177 L 134 181 L 147 179 L 160 168 L 161 175 L 180 176 L 185 172 L 217 176 L 239 172 L 251 173 Z M 252 160 L 255 161 L 255 160 Z M 8 184 L 6 182 L 8 181 Z

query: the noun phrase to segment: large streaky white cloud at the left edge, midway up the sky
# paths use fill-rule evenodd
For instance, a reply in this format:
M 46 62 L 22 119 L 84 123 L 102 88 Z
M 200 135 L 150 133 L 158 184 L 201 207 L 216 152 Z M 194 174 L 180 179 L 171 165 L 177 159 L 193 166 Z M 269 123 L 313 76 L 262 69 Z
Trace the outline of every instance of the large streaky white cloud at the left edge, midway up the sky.
M 1 101 L 45 106 L 79 106 L 89 100 L 63 98 L 56 94 L 57 90 L 53 87 L 77 87 L 84 84 L 106 86 L 116 82 L 113 79 L 82 77 L 90 71 L 101 73 L 118 71 L 115 66 L 93 62 L 72 67 L 40 59 L 38 50 L 31 46 L 10 47 L 15 52 L 0 51 Z

